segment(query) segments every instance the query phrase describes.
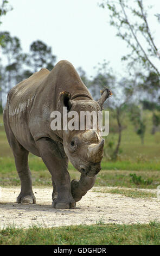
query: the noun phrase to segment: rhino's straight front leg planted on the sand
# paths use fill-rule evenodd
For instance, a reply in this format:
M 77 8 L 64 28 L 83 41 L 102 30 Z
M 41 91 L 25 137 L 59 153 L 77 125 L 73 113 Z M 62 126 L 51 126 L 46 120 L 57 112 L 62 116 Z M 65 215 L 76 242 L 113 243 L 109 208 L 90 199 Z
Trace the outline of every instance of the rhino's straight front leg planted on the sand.
M 59 146 L 52 139 L 43 137 L 36 142 L 43 162 L 46 164 L 54 186 L 53 207 L 75 208 L 71 194 L 71 179 L 67 170 L 67 157 L 64 157 Z

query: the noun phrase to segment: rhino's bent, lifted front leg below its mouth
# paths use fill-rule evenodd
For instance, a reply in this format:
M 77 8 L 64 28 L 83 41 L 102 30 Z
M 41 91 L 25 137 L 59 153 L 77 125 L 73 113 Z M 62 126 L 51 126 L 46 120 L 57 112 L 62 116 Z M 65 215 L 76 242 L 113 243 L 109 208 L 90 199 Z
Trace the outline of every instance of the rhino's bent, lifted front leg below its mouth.
M 72 180 L 71 182 L 71 193 L 75 200 L 78 202 L 88 190 L 90 190 L 95 183 L 96 176 L 88 178 L 85 174 L 81 174 L 80 180 Z

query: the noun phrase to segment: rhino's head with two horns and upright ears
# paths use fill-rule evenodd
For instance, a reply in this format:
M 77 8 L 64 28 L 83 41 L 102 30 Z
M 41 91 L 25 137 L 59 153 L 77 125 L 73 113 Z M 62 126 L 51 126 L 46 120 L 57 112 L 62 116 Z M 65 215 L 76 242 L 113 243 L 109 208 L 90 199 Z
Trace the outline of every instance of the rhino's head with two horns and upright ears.
M 98 113 L 103 109 L 103 103 L 108 96 L 111 96 L 110 90 L 104 89 L 101 91 L 98 101 L 86 100 L 81 97 L 71 100 L 71 94 L 63 92 L 60 96 L 60 105 L 67 107 L 68 112 L 95 111 Z M 99 173 L 103 158 L 104 139 L 101 137 L 98 127 L 97 130 L 92 129 L 92 120 L 89 130 L 63 131 L 63 147 L 69 161 L 81 174 L 92 178 Z

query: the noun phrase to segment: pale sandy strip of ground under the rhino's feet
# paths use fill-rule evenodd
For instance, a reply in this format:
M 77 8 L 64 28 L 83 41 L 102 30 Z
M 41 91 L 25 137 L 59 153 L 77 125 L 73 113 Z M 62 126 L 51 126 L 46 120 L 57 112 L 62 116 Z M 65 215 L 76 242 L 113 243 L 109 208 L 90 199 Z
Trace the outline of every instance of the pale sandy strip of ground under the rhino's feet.
M 157 198 L 131 198 L 91 190 L 76 203 L 75 209 L 61 210 L 52 208 L 52 188 L 33 188 L 33 191 L 36 204 L 17 204 L 16 197 L 20 193 L 20 188 L 2 188 L 0 228 L 10 224 L 19 228 L 28 228 L 34 224 L 43 227 L 59 227 L 100 222 L 132 224 L 149 223 L 155 219 L 160 221 L 160 201 Z M 156 193 L 156 190 L 152 192 Z

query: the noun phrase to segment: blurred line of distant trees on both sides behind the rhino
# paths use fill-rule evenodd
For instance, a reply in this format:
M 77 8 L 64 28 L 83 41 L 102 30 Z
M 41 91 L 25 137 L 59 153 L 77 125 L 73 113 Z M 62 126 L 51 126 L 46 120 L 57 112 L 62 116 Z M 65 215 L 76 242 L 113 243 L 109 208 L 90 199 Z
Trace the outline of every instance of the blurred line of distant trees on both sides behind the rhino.
M 41 68 L 52 70 L 56 63 L 56 56 L 52 47 L 37 40 L 30 44 L 29 53 L 24 53 L 21 41 L 9 32 L 1 32 L 2 56 L 0 59 L 0 111 L 2 113 L 6 95 L 17 83 L 31 76 Z M 117 122 L 118 141 L 113 150 L 116 158 L 121 143 L 121 132 L 124 129 L 124 117 L 129 118 L 135 126 L 135 131 L 144 143 L 146 120 L 143 116 L 144 109 L 152 111 L 152 134 L 158 131 L 160 124 L 160 80 L 155 71 L 149 70 L 147 74 L 135 72 L 128 77 L 116 76 L 110 64 L 105 60 L 95 67 L 95 76 L 88 78 L 86 72 L 77 68 L 79 75 L 88 87 L 93 98 L 98 100 L 100 90 L 107 87 L 112 90 L 112 97 L 104 106 L 112 110 L 112 115 Z

